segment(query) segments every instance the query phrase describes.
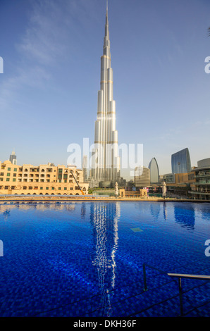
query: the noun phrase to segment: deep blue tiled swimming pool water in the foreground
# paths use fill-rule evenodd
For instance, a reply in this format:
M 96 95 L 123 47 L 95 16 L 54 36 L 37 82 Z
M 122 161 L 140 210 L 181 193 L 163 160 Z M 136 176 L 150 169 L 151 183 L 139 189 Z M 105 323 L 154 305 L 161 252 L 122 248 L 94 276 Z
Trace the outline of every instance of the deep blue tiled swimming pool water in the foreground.
M 210 275 L 210 204 L 0 203 L 0 316 L 178 316 L 178 281 Z M 210 282 L 182 280 L 185 316 L 210 316 Z

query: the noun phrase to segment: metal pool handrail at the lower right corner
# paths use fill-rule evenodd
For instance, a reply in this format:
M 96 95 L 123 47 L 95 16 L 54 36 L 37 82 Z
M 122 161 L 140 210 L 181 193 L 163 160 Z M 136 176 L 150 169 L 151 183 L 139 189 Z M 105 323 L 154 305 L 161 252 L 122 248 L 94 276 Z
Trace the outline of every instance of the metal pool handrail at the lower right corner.
M 170 277 L 178 278 L 178 288 L 179 288 L 179 296 L 180 296 L 180 316 L 183 316 L 183 289 L 182 289 L 182 278 L 190 278 L 194 280 L 210 280 L 209 275 L 188 275 L 183 273 L 166 273 L 163 270 L 160 270 L 159 268 L 156 268 L 154 266 L 150 266 L 147 263 L 143 263 L 143 275 L 144 275 L 144 291 L 147 291 L 147 275 L 146 275 L 146 266 L 159 271 L 159 273 L 162 273 L 164 275 L 168 275 Z

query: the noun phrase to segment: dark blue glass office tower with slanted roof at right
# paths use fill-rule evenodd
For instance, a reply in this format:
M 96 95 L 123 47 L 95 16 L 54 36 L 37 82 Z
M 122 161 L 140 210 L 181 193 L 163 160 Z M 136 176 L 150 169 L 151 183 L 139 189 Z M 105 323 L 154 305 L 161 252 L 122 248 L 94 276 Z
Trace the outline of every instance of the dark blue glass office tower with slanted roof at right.
M 191 171 L 191 161 L 189 149 L 182 149 L 171 155 L 172 173 L 189 173 Z

